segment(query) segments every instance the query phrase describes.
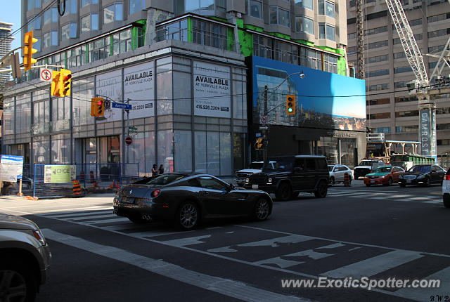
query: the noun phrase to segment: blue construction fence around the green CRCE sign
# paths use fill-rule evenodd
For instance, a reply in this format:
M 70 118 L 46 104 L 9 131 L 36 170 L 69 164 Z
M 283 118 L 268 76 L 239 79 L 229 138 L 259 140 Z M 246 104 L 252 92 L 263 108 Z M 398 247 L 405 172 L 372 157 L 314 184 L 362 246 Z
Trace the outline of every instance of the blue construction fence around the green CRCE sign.
M 34 164 L 32 173 L 27 172 L 23 179 L 23 193 L 41 198 L 73 197 L 72 181 L 67 183 L 46 183 L 44 179 L 46 164 Z M 52 166 L 68 166 L 65 164 L 52 164 Z M 139 164 L 73 164 L 82 195 L 89 192 L 115 192 L 122 185 L 139 180 Z M 28 169 L 30 170 L 30 169 Z M 30 177 L 32 176 L 32 177 Z M 28 179 L 29 178 L 29 179 Z M 26 183 L 24 185 L 24 183 Z

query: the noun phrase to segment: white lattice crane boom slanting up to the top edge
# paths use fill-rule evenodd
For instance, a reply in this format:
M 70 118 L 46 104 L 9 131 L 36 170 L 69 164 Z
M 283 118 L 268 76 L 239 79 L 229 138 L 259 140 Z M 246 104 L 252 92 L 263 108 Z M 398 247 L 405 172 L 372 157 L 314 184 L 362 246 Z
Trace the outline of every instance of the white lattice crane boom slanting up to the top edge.
M 409 65 L 416 75 L 419 87 L 427 87 L 430 85 L 428 79 L 427 69 L 423 63 L 423 56 L 420 53 L 420 48 L 417 45 L 416 39 L 414 39 L 413 31 L 409 26 L 408 19 L 401 7 L 400 0 L 385 0 L 387 8 L 391 14 L 397 33 L 401 41 L 401 46 L 406 54 Z

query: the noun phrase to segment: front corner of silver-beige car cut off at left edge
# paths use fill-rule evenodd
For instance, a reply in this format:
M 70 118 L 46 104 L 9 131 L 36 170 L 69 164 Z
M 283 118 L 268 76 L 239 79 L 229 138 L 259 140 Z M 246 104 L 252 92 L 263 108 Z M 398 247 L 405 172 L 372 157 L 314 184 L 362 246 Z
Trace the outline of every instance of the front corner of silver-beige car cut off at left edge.
M 49 245 L 35 223 L 0 213 L 0 301 L 34 301 L 50 263 Z

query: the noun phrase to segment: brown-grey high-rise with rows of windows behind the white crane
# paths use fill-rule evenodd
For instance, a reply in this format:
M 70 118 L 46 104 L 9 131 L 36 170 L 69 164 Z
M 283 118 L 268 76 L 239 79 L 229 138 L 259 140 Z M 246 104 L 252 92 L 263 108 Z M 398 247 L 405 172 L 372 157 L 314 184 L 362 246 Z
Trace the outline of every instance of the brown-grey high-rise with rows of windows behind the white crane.
M 423 55 L 428 75 L 450 35 L 449 1 L 402 0 L 406 17 Z M 355 1 L 347 6 L 348 58 L 356 65 Z M 401 46 L 385 1 L 366 1 L 364 56 L 367 126 L 390 140 L 418 140 L 418 101 L 406 83 L 416 79 Z M 450 95 L 437 97 L 437 155 L 450 151 Z

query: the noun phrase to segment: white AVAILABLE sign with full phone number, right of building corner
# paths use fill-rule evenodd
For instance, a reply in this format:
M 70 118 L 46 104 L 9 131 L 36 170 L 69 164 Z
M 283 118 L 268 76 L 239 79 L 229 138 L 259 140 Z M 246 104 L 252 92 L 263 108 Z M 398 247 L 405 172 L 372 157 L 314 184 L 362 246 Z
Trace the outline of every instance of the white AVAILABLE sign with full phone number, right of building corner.
M 194 61 L 194 114 L 231 117 L 230 68 Z

